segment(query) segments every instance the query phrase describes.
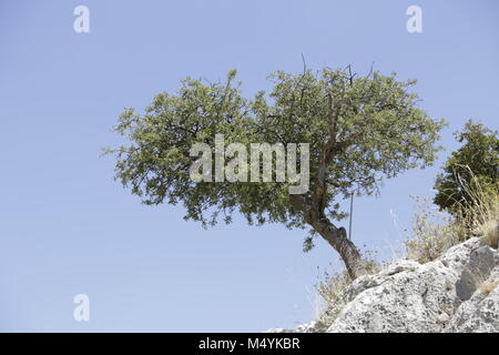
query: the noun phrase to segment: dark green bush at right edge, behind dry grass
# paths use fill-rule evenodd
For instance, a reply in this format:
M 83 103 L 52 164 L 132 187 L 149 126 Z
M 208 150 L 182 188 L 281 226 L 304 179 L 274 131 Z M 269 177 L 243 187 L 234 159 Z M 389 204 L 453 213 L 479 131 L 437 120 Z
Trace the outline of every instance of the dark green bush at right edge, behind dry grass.
M 461 148 L 452 152 L 444 165 L 444 172 L 435 182 L 434 202 L 441 211 L 456 214 L 460 206 L 472 203 L 470 189 L 477 183 L 487 193 L 499 193 L 499 139 L 498 132 L 482 123 L 466 122 L 455 136 Z M 462 212 L 462 211 L 461 211 Z

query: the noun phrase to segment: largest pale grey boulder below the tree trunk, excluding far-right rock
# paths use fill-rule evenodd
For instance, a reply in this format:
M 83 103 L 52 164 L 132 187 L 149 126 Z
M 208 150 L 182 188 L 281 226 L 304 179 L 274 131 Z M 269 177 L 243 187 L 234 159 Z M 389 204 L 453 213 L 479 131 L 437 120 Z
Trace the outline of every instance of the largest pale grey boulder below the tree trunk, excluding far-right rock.
M 346 305 L 328 332 L 442 332 L 490 275 L 496 253 L 471 239 L 434 262 L 400 260 L 359 277 L 343 292 Z

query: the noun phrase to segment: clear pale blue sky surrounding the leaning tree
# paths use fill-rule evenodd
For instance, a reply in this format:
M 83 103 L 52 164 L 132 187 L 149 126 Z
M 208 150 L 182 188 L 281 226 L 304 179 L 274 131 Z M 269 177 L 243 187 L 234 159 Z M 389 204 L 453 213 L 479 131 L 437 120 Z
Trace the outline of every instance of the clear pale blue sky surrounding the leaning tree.
M 90 9 L 90 33 L 73 9 Z M 424 32 L 406 31 L 422 9 Z M 100 158 L 125 106 L 186 75 L 237 68 L 248 94 L 266 73 L 371 62 L 419 80 L 421 106 L 450 126 L 498 128 L 499 2 L 0 0 L 0 331 L 254 331 L 314 315 L 314 284 L 336 253 L 281 225 L 203 230 L 182 206 L 150 207 Z M 354 240 L 389 256 L 437 166 L 356 201 Z M 396 229 L 390 210 L 398 215 Z M 90 322 L 73 296 L 90 296 Z

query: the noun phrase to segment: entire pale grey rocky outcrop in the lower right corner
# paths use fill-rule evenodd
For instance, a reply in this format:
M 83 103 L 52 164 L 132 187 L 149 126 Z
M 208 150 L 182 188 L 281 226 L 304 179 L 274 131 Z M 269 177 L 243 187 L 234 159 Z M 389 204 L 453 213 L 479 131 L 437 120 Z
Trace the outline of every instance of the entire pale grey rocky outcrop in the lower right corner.
M 499 332 L 499 252 L 475 237 L 434 262 L 399 260 L 338 296 L 329 333 Z M 295 332 L 317 331 L 315 323 Z

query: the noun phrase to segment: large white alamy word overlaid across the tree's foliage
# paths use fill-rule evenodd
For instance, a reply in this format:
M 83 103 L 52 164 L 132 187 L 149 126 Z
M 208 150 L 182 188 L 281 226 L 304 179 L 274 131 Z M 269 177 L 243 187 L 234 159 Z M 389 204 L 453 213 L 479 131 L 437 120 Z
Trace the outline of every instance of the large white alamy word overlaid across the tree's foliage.
M 299 172 L 296 156 L 298 148 Z M 214 162 L 212 148 L 206 143 L 193 144 L 190 155 L 201 155 L 190 169 L 191 180 L 194 182 L 248 182 L 248 175 L 252 183 L 272 182 L 273 175 L 275 175 L 275 182 L 287 181 L 292 184 L 289 194 L 303 194 L 308 191 L 308 143 L 288 143 L 286 146 L 283 143 L 251 143 L 248 163 L 245 144 L 231 143 L 225 146 L 224 134 L 215 134 Z M 230 159 L 227 163 L 225 163 L 225 159 Z M 273 170 L 274 165 L 275 171 Z

